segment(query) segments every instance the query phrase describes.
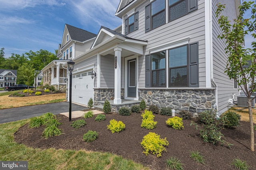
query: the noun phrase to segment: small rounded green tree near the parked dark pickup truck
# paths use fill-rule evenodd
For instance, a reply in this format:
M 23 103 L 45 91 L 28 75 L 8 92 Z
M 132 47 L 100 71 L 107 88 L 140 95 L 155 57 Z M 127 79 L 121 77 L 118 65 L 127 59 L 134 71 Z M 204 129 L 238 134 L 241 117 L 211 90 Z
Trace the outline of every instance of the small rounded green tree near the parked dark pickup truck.
M 22 66 L 20 66 L 18 71 L 20 71 L 22 76 L 25 78 L 26 85 L 28 85 L 28 88 L 29 88 L 30 82 L 34 80 L 34 77 L 35 77 L 35 69 L 33 68 L 33 65 L 24 63 L 22 64 Z

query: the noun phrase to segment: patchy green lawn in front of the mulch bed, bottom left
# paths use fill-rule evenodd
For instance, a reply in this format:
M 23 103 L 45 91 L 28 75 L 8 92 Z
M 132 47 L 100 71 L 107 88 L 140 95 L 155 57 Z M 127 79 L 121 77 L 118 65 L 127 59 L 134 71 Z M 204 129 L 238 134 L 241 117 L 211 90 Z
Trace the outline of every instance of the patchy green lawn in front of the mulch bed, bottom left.
M 0 160 L 28 161 L 28 170 L 149 170 L 141 164 L 109 152 L 86 150 L 32 149 L 14 142 L 14 133 L 29 119 L 0 124 Z

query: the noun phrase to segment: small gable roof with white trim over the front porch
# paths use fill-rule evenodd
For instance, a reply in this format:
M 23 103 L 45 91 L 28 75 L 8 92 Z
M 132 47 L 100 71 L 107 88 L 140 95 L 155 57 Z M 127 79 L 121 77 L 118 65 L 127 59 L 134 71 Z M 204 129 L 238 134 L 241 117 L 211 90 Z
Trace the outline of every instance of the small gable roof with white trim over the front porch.
M 98 33 L 96 39 L 95 39 L 94 42 L 92 43 L 91 49 L 92 49 L 93 47 L 95 47 L 96 45 L 99 45 L 100 43 L 102 43 L 102 42 L 104 41 L 104 37 L 105 37 L 106 35 L 107 35 L 109 38 L 110 38 L 110 37 L 113 37 L 114 35 L 118 35 L 118 36 L 120 36 L 120 37 L 124 37 L 125 39 L 131 39 L 131 40 L 136 40 L 136 41 L 141 41 L 141 42 L 147 42 L 147 41 L 142 41 L 142 40 L 139 40 L 139 39 L 130 38 L 130 37 L 124 35 L 124 34 L 121 34 L 121 33 L 116 32 L 116 31 L 114 31 L 114 30 L 112 30 L 112 29 L 109 29 L 109 28 L 107 28 L 107 27 L 101 26 L 101 27 L 100 27 L 100 31 L 99 31 L 99 33 Z

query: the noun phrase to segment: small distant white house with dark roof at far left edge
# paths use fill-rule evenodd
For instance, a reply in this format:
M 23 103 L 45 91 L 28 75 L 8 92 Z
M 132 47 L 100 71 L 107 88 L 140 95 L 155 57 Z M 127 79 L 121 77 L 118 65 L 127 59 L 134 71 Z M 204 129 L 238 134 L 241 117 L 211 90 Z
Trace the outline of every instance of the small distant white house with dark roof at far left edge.
M 17 70 L 0 69 L 0 88 L 14 86 L 17 81 Z

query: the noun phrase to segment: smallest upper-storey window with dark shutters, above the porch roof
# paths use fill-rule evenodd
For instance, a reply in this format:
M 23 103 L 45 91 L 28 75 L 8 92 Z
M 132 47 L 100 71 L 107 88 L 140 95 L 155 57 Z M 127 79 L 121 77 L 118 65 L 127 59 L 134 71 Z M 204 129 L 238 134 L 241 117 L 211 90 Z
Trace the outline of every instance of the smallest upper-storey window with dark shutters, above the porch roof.
M 131 33 L 139 28 L 138 26 L 139 13 L 136 12 L 132 16 L 129 16 L 125 21 L 125 35 Z

